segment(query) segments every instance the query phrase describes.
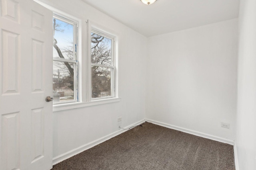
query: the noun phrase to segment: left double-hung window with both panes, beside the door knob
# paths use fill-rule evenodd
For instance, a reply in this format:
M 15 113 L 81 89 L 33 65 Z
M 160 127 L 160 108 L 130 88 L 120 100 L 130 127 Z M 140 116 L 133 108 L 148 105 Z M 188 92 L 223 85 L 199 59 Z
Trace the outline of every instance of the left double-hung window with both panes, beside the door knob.
M 53 17 L 54 104 L 77 102 L 77 23 Z

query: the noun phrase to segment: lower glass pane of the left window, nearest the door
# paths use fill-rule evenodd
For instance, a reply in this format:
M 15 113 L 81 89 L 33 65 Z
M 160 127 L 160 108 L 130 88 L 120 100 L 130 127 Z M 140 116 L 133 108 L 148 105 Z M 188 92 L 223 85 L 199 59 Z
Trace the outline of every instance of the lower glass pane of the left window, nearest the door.
M 74 100 L 74 63 L 53 61 L 53 102 Z

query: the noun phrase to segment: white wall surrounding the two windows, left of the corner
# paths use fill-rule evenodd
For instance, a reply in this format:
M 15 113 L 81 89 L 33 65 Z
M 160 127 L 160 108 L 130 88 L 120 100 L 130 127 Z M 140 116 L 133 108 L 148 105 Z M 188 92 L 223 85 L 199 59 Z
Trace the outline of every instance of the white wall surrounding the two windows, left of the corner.
M 120 116 L 122 127 L 144 119 L 147 39 L 81 0 L 41 1 L 82 19 L 83 23 L 89 19 L 119 33 L 119 96 L 122 98 L 121 101 L 54 112 L 53 156 L 56 157 L 118 131 L 117 118 Z M 82 31 L 86 33 L 86 27 Z M 86 41 L 83 39 L 84 44 Z

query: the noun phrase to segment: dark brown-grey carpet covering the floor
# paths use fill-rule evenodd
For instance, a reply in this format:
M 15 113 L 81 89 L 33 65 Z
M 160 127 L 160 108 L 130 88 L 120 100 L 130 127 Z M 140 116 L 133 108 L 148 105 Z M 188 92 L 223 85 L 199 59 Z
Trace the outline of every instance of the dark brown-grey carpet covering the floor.
M 235 170 L 234 149 L 146 122 L 52 170 Z

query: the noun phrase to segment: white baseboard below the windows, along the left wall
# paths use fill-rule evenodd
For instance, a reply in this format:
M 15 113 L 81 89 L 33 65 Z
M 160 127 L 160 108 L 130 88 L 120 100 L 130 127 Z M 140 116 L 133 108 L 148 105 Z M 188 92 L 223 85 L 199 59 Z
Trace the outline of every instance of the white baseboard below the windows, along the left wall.
M 135 125 L 140 125 L 141 123 L 144 123 L 144 122 L 145 122 L 145 120 L 143 119 L 141 121 L 138 121 L 136 123 L 133 123 L 133 124 L 131 124 L 129 126 L 124 127 L 124 129 L 128 129 L 128 128 L 130 128 L 132 126 L 135 126 Z M 95 141 L 92 141 L 90 143 L 82 145 L 82 146 L 80 146 L 80 147 L 78 147 L 76 149 L 72 149 L 72 150 L 70 150 L 70 151 L 68 151 L 66 153 L 60 154 L 59 156 L 56 156 L 56 157 L 53 158 L 52 164 L 53 165 L 58 164 L 59 162 L 65 160 L 65 159 L 68 159 L 68 158 L 70 158 L 70 157 L 72 157 L 72 156 L 74 156 L 76 154 L 79 154 L 79 153 L 83 152 L 84 150 L 90 149 L 90 148 L 92 148 L 92 147 L 94 147 L 94 146 L 96 146 L 96 145 L 98 145 L 98 144 L 100 144 L 102 142 L 107 141 L 108 139 L 111 139 L 112 137 L 120 135 L 121 133 L 124 133 L 125 131 L 127 131 L 127 130 L 124 130 L 124 129 L 120 129 L 118 131 L 110 133 L 109 135 L 101 137 L 100 139 L 96 139 Z

